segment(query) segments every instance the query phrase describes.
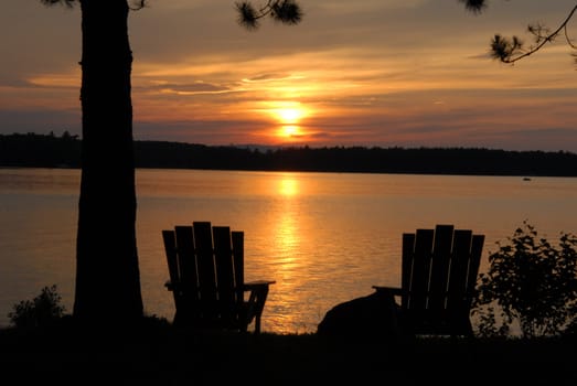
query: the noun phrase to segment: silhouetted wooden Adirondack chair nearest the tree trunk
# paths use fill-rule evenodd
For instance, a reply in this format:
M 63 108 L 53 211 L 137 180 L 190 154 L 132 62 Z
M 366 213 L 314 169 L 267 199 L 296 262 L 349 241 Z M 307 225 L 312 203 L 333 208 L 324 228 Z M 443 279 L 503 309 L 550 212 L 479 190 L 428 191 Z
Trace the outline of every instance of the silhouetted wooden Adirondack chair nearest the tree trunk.
M 244 232 L 193 222 L 162 230 L 162 238 L 175 325 L 246 332 L 254 320 L 254 332 L 260 332 L 268 288 L 275 281 L 244 282 Z

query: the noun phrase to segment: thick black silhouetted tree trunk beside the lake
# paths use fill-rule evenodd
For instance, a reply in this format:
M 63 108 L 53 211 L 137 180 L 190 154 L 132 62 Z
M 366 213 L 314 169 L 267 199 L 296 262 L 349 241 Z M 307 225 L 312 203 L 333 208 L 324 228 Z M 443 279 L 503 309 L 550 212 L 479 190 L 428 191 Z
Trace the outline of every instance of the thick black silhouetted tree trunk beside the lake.
M 131 66 L 126 0 L 81 0 L 82 181 L 74 317 L 143 314 L 136 240 Z

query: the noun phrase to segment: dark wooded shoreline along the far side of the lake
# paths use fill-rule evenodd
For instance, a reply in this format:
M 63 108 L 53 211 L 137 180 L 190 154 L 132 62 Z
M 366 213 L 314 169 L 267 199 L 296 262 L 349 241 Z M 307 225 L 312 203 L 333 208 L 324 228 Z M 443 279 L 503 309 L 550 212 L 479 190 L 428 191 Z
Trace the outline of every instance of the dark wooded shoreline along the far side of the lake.
M 0 135 L 0 167 L 79 168 L 81 142 L 67 131 Z M 205 146 L 135 141 L 137 168 L 346 173 L 577 176 L 577 154 L 483 148 Z

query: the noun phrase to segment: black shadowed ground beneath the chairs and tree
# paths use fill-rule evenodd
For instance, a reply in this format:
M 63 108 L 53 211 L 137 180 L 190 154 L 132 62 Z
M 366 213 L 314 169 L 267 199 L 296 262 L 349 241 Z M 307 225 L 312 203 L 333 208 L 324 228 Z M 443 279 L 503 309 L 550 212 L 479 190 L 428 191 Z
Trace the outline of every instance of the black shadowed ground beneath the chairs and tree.
M 0 330 L 0 385 L 577 385 L 577 340 Z

